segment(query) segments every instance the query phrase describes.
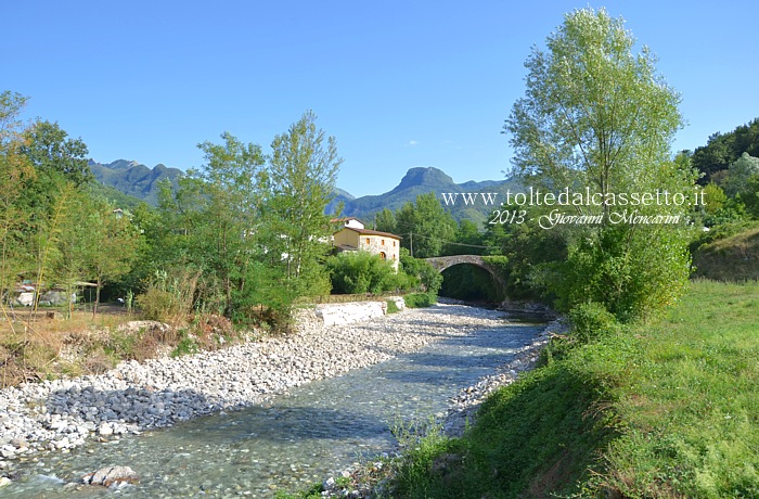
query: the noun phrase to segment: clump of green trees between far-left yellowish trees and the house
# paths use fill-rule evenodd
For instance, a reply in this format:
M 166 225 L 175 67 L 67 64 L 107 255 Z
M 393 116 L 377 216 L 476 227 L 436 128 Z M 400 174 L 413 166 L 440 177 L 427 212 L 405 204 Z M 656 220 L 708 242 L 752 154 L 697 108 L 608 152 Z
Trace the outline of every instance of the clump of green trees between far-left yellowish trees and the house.
M 168 276 L 188 272 L 175 294 L 191 308 L 236 321 L 282 321 L 298 296 L 329 294 L 324 258 L 332 234 L 325 206 L 342 159 L 335 140 L 307 112 L 274 138 L 271 153 L 230 133 L 204 142 L 205 166 L 164 184 L 156 212 L 136 214 L 146 244 L 130 285 L 157 276 L 151 299 L 169 293 Z M 256 317 L 254 317 L 256 316 Z

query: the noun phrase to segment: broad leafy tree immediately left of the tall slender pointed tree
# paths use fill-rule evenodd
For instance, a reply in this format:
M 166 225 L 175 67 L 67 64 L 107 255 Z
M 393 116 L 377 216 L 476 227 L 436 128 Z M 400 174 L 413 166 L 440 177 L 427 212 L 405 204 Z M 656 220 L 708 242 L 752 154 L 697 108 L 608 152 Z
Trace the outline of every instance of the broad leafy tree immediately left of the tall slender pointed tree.
M 221 138 L 221 144 L 198 144 L 206 164 L 180 178 L 176 192 L 162 184 L 160 217 L 149 227 L 158 267 L 179 274 L 182 267 L 197 269 L 208 281 L 201 302 L 215 303 L 218 289 L 219 311 L 237 317 L 252 306 L 249 270 L 260 254 L 266 157 L 257 144 L 229 132 Z

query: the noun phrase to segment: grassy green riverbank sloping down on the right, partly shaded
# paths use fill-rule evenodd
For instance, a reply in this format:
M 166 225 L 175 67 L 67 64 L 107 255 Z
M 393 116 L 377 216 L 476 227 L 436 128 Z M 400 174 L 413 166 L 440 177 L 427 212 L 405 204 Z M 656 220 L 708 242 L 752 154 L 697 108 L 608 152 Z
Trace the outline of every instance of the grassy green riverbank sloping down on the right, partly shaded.
M 394 497 L 758 497 L 759 284 L 698 281 L 659 322 L 554 344 Z

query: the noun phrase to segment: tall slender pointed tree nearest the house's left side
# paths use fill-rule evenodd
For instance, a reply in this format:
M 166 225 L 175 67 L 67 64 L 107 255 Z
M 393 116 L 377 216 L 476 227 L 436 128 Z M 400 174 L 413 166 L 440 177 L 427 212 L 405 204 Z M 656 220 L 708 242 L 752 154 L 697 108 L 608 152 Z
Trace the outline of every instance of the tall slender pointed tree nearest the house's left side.
M 284 265 L 287 280 L 310 292 L 322 286 L 318 261 L 329 251 L 330 215 L 324 210 L 334 199 L 335 180 L 343 159 L 334 137 L 317 128 L 317 116 L 306 112 L 271 143 L 269 161 L 269 247 L 275 265 Z M 313 290 L 317 291 L 317 290 Z M 323 290 L 320 290 L 323 291 Z

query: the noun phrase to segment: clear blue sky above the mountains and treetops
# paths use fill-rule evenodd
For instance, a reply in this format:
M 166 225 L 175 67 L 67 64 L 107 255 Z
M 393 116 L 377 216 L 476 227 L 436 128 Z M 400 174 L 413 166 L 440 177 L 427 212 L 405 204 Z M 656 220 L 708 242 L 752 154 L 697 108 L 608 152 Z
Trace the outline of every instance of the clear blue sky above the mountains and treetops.
M 337 140 L 338 187 L 393 189 L 413 166 L 503 178 L 524 62 L 563 15 L 606 7 L 659 56 L 689 125 L 676 150 L 759 116 L 759 3 L 742 1 L 0 2 L 0 91 L 101 163 L 200 167 L 230 131 L 269 149 L 306 110 Z

